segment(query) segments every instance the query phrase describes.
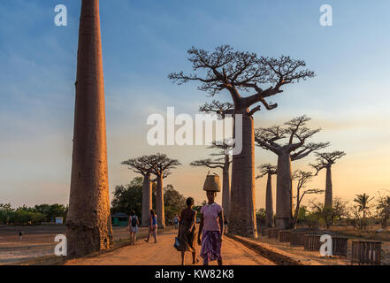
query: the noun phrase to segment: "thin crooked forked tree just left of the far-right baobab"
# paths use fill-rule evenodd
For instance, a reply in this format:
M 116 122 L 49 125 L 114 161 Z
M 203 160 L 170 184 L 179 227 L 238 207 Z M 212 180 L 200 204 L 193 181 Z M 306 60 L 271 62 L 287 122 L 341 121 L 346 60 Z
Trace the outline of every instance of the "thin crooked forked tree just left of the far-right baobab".
M 308 183 L 313 179 L 314 175 L 312 172 L 305 172 L 302 170 L 294 171 L 292 180 L 297 182 L 296 184 L 296 204 L 295 204 L 295 212 L 293 218 L 293 227 L 296 226 L 296 222 L 298 221 L 299 209 L 301 208 L 301 203 L 303 197 L 305 195 L 313 195 L 313 194 L 321 194 L 324 193 L 323 189 L 318 188 L 310 188 L 303 190 Z

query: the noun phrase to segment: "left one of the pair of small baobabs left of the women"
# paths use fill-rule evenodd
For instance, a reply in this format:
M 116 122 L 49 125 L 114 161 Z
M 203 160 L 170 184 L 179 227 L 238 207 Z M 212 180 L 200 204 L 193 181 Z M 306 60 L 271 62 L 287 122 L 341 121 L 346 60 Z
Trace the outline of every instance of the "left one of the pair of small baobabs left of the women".
M 142 156 L 128 159 L 121 164 L 128 165 L 130 170 L 140 173 L 143 177 L 141 226 L 149 226 L 149 211 L 152 209 L 152 182 L 150 174 L 155 165 L 155 160 L 153 156 Z

